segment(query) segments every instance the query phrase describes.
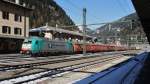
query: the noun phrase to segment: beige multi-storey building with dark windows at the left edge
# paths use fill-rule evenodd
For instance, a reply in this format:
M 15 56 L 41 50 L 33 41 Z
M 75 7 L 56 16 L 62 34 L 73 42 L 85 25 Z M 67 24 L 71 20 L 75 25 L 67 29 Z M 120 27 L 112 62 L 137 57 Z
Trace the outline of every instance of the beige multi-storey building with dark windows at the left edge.
M 19 52 L 23 39 L 29 36 L 29 16 L 32 9 L 0 0 L 0 53 Z

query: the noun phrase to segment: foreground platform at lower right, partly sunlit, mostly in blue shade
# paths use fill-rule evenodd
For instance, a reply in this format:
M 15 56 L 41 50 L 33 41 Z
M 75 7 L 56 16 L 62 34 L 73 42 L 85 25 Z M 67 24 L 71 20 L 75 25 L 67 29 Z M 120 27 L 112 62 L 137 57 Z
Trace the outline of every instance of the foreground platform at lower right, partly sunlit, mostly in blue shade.
M 39 83 L 44 84 L 146 84 L 143 79 L 145 69 L 143 65 L 149 53 L 144 52 L 136 57 L 124 56 L 119 60 L 100 64 L 77 71 L 68 71 L 58 74 Z M 150 57 L 149 57 L 150 59 Z M 147 61 L 148 62 L 148 61 Z M 149 62 L 150 63 L 150 62 Z M 147 66 L 147 65 L 146 65 Z M 144 65 L 144 67 L 146 67 Z M 142 72 L 141 71 L 144 71 Z M 150 68 L 146 69 L 150 72 Z M 149 70 L 149 71 L 148 71 Z M 139 75 L 142 74 L 142 75 Z M 147 76 L 146 76 L 147 77 Z M 136 81 L 135 81 L 136 80 Z M 148 78 L 147 78 L 148 81 Z M 149 83 L 148 83 L 149 84 Z

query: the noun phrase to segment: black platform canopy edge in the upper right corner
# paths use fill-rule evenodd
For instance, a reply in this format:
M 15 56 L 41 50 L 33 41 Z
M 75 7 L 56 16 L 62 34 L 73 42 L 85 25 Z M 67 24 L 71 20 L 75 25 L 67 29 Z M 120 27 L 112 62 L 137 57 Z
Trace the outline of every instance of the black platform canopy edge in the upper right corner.
M 150 43 L 150 0 L 132 0 Z

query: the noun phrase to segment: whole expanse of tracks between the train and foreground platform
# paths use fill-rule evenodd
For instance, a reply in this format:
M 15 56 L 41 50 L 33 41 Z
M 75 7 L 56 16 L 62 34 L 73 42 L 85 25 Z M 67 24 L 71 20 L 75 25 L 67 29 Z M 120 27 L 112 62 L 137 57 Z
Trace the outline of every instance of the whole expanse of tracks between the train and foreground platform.
M 87 53 L 86 56 L 0 55 L 0 83 L 70 83 L 128 60 L 138 53 L 139 50 Z

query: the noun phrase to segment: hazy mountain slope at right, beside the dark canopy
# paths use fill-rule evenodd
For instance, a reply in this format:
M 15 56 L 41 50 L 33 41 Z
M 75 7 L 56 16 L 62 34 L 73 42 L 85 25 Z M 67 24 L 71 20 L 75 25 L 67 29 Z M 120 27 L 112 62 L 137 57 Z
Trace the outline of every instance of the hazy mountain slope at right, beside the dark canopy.
M 137 14 L 132 13 L 118 19 L 117 21 L 97 28 L 93 36 L 97 36 L 103 41 L 105 40 L 104 42 L 108 39 L 114 41 L 116 38 L 120 38 L 124 43 L 129 39 L 135 39 L 134 41 L 142 40 L 142 38 L 145 37 L 145 33 L 143 32 Z

